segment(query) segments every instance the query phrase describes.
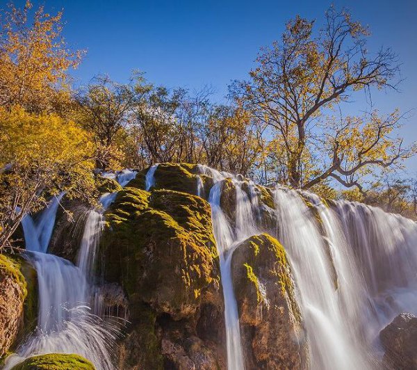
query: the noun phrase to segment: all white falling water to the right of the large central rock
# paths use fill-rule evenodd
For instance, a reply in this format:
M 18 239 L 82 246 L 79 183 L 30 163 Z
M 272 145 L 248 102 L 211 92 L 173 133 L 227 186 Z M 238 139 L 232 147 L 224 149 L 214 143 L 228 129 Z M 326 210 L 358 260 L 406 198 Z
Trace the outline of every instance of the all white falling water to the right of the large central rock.
M 268 230 L 259 220 L 256 185 L 199 166 L 213 177 L 213 230 L 220 254 L 228 369 L 243 369 L 231 256 L 240 241 Z M 236 216 L 220 207 L 222 180 L 236 186 Z M 197 193 L 199 184 L 197 179 Z M 380 369 L 379 331 L 400 312 L 417 314 L 417 224 L 359 203 L 328 207 L 311 193 L 274 191 L 277 238 L 293 269 L 309 345 L 309 367 Z

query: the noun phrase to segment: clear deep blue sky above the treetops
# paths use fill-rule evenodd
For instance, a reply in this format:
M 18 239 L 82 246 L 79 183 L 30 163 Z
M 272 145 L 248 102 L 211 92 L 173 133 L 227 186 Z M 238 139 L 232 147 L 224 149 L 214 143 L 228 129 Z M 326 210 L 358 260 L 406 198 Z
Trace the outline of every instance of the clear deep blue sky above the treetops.
M 1 4 L 7 1 L 0 0 Z M 44 0 L 47 10 L 64 10 L 65 37 L 72 47 L 87 49 L 74 76 L 79 83 L 106 73 L 126 81 L 131 70 L 168 87 L 198 89 L 212 85 L 222 99 L 227 84 L 247 77 L 259 47 L 279 38 L 297 14 L 322 22 L 331 1 L 279 0 Z M 23 4 L 23 0 L 15 1 Z M 378 93 L 375 106 L 390 111 L 417 108 L 417 0 L 336 0 L 347 6 L 373 35 L 369 49 L 392 47 L 402 61 L 401 92 Z M 1 7 L 3 8 L 3 6 Z M 363 108 L 350 104 L 350 110 Z M 403 134 L 417 140 L 417 113 Z M 417 171 L 417 160 L 409 170 Z

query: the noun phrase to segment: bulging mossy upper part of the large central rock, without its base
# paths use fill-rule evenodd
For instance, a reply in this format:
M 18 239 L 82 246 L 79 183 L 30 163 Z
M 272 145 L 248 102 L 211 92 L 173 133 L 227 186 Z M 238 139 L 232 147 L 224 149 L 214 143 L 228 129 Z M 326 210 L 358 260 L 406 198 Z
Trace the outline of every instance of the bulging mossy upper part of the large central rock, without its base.
M 106 217 L 106 278 L 120 282 L 131 301 L 180 309 L 212 282 L 218 253 L 211 209 L 202 198 L 124 188 Z

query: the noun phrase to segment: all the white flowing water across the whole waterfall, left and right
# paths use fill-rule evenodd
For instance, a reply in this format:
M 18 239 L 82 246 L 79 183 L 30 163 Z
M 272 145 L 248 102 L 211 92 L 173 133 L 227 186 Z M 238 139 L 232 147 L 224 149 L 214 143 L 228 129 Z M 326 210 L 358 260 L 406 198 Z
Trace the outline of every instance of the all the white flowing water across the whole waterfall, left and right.
M 145 177 L 155 184 L 157 164 Z M 198 166 L 213 178 L 208 194 L 213 232 L 220 255 L 224 295 L 228 369 L 244 369 L 239 315 L 231 276 L 231 257 L 239 244 L 264 230 L 259 189 L 227 172 Z M 126 185 L 136 172 L 124 170 L 105 177 Z M 236 187 L 233 209 L 222 209 L 225 181 Z M 197 176 L 197 195 L 204 184 Z M 379 331 L 400 312 L 417 314 L 417 224 L 407 218 L 355 202 L 327 206 L 316 195 L 275 188 L 279 239 L 295 278 L 296 296 L 309 345 L 313 370 L 379 369 Z M 113 369 L 111 353 L 117 327 L 100 319 L 103 312 L 95 266 L 104 225 L 103 211 L 117 193 L 101 196 L 101 211 L 86 218 L 76 266 L 47 254 L 60 195 L 35 219 L 22 220 L 26 258 L 38 272 L 38 328 L 8 357 L 6 369 L 30 355 L 79 353 L 97 369 Z M 89 307 L 93 307 L 90 309 Z M 273 351 L 273 348 L 272 348 Z

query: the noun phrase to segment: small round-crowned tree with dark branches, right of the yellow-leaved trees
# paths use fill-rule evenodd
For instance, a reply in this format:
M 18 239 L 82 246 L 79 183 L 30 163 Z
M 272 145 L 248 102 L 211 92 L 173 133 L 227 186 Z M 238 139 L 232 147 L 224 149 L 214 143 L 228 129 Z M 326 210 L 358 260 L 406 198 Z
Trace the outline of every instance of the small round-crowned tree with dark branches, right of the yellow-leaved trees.
M 122 153 L 113 141 L 128 127 L 133 111 L 143 104 L 151 88 L 142 74 L 135 72 L 129 83 L 116 83 L 107 76 L 97 76 L 76 94 L 77 120 L 93 134 L 99 168 L 117 166 Z

